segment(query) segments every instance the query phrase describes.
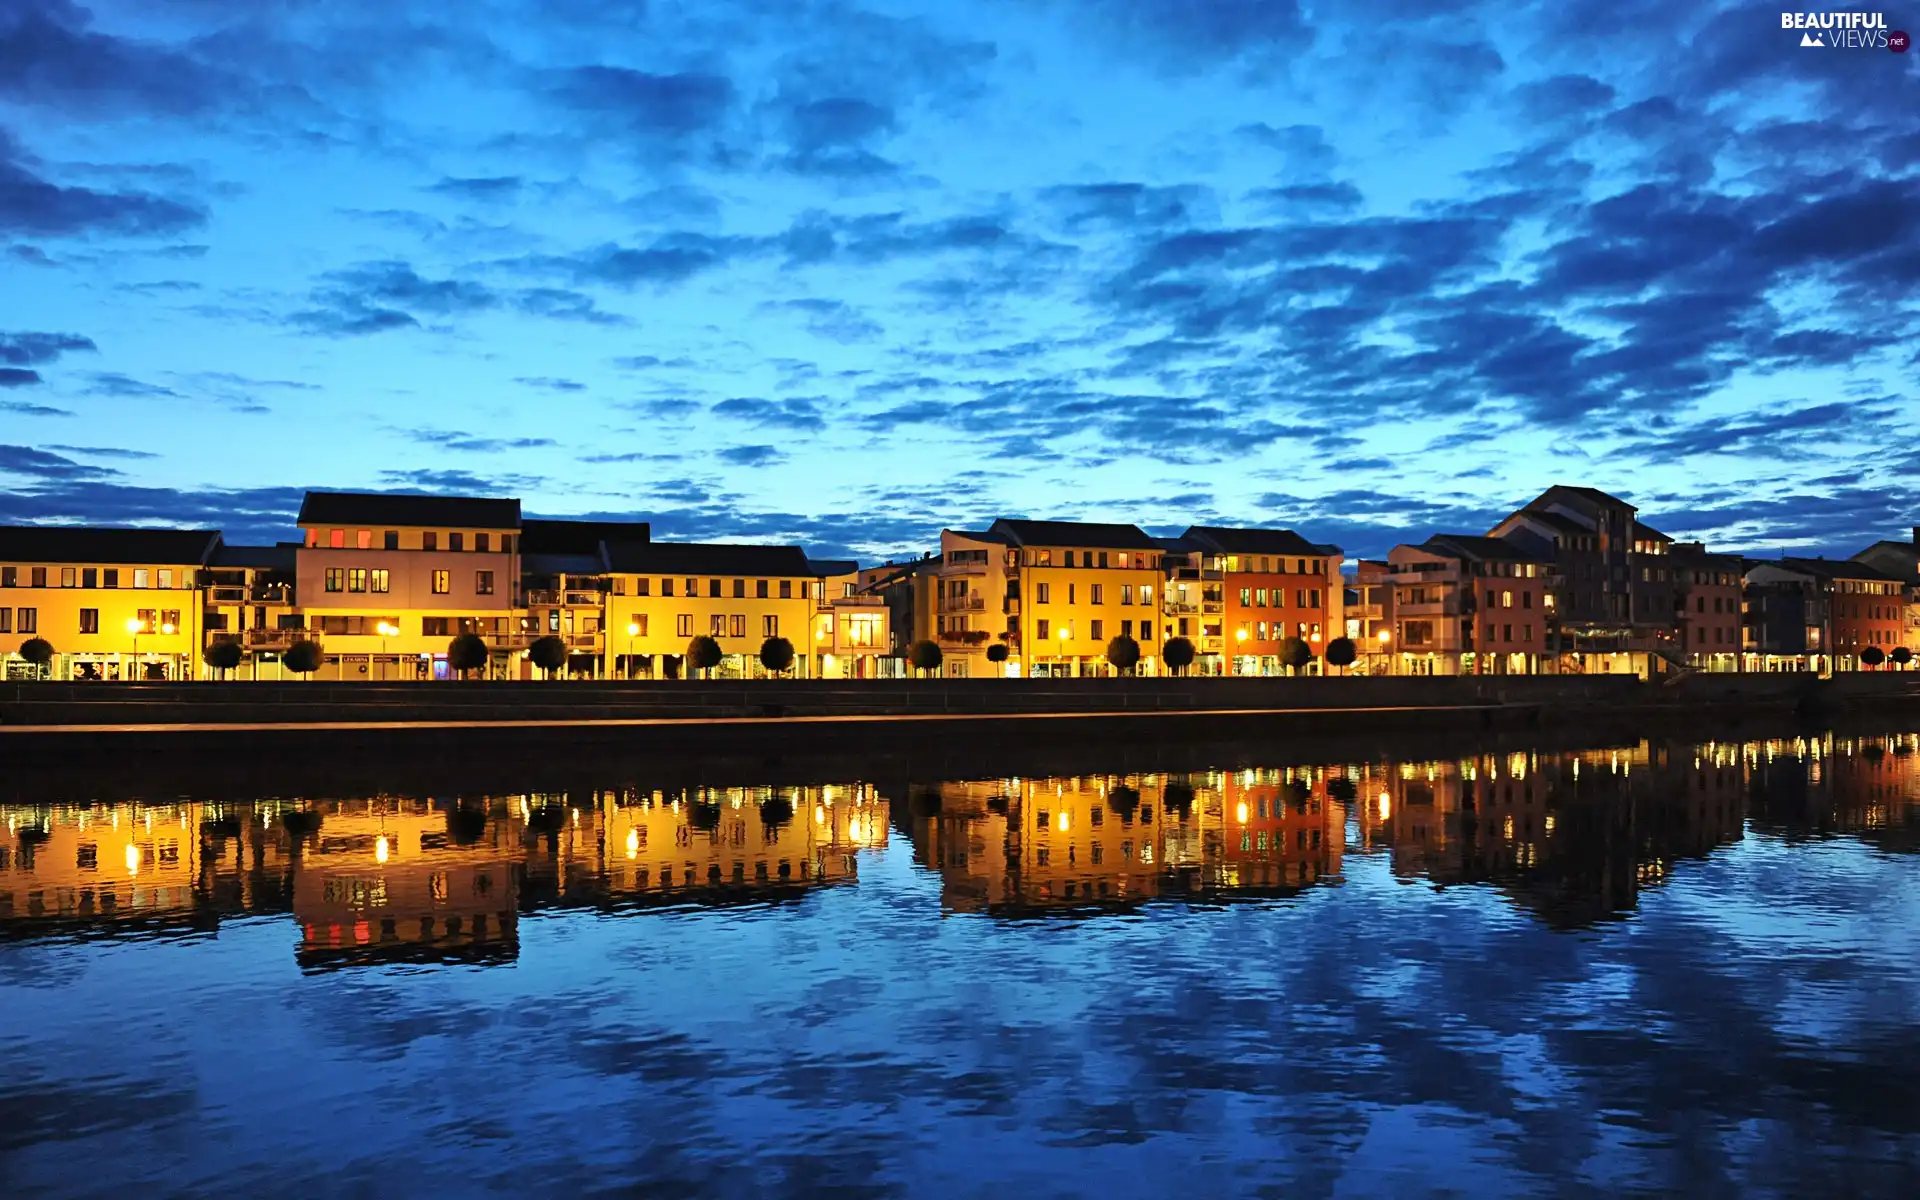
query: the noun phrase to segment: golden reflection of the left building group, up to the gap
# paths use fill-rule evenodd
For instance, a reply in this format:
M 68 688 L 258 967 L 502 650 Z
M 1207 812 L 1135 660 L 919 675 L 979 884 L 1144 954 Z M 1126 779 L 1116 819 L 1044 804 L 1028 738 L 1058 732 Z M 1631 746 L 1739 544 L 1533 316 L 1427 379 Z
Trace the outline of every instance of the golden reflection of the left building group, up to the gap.
M 851 881 L 870 785 L 238 806 L 0 806 L 0 939 L 292 912 L 307 970 L 511 962 L 553 904 L 730 904 Z

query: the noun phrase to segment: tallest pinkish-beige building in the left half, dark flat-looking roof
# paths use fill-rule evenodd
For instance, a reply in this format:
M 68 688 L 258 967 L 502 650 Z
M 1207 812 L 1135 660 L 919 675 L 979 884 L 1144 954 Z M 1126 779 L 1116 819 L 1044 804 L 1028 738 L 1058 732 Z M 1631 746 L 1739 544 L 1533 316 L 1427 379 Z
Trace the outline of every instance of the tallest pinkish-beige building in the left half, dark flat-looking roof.
M 309 492 L 296 561 L 323 680 L 445 678 L 447 645 L 476 634 L 486 674 L 515 674 L 530 636 L 518 607 L 520 501 Z

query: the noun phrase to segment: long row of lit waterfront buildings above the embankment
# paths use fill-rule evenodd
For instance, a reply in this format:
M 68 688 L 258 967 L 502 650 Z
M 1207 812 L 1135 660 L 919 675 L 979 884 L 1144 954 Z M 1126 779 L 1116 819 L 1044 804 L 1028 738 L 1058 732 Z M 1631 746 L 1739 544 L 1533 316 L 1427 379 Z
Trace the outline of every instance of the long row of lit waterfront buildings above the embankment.
M 943 530 L 939 553 L 860 568 L 793 545 L 655 541 L 647 522 L 541 520 L 516 499 L 311 492 L 300 540 L 228 543 L 219 530 L 0 526 L 0 662 L 67 680 L 207 678 L 219 643 L 242 678 L 278 678 L 317 643 L 319 678 L 451 674 L 478 636 L 486 674 L 530 678 L 541 637 L 564 672 L 662 678 L 695 636 L 722 676 L 764 674 L 791 643 L 801 678 L 941 672 L 1110 674 L 1131 637 L 1162 674 L 1185 639 L 1196 674 L 1308 674 L 1332 643 L 1365 674 L 1857 670 L 1920 651 L 1920 526 L 1853 559 L 1745 559 L 1676 541 L 1628 501 L 1555 486 L 1484 534 L 1434 534 L 1386 559 L 1284 528 L 1002 518 Z M 1342 647 L 1344 649 L 1344 647 Z M 1907 651 L 1907 655 L 1897 653 Z

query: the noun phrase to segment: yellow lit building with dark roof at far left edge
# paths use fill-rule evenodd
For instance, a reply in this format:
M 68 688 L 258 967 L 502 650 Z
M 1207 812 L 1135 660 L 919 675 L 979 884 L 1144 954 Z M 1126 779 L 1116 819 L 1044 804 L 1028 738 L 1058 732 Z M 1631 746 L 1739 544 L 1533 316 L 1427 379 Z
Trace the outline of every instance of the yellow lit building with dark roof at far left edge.
M 198 572 L 219 541 L 213 530 L 0 526 L 6 676 L 38 674 L 19 653 L 38 637 L 56 680 L 198 678 Z

